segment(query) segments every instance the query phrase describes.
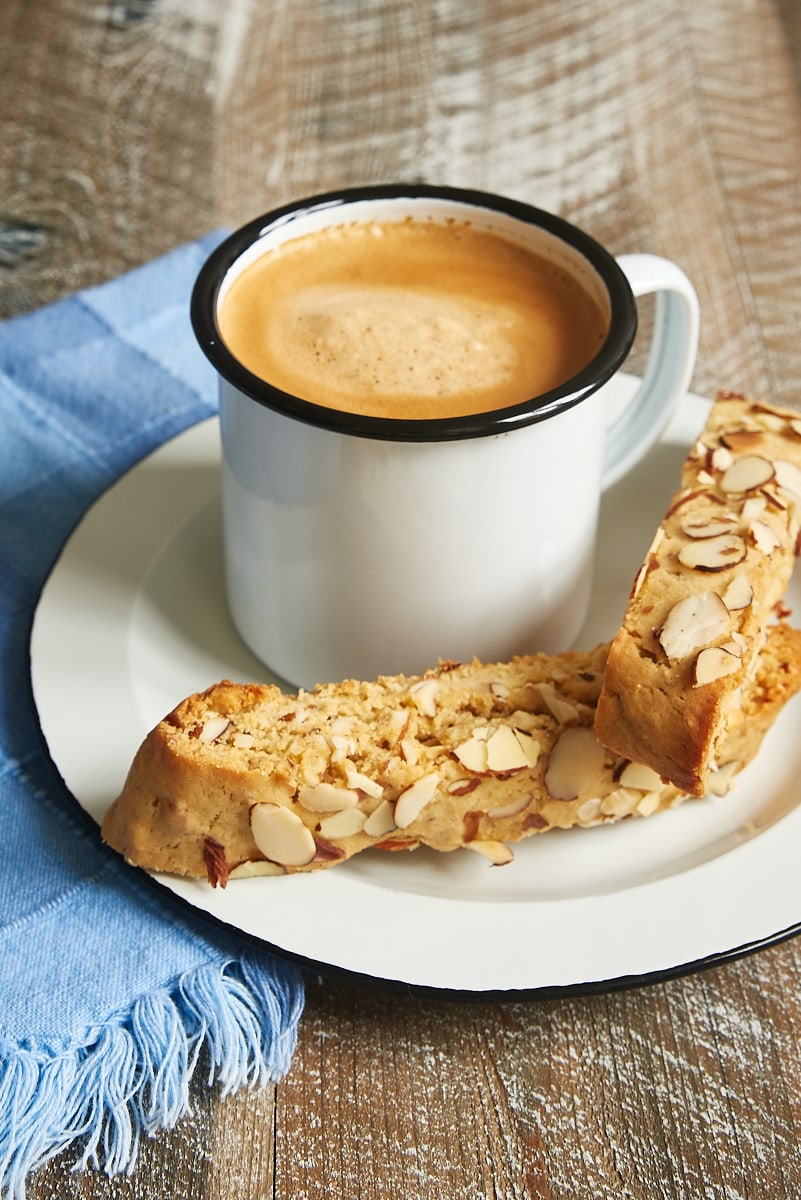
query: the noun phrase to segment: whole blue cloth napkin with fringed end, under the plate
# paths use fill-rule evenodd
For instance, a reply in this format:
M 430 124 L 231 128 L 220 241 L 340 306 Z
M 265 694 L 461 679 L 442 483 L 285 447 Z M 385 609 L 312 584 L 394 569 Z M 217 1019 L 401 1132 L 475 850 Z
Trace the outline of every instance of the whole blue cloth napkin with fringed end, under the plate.
M 132 1170 L 141 1134 L 188 1111 L 200 1063 L 233 1091 L 279 1079 L 295 1048 L 299 971 L 101 845 L 47 758 L 30 686 L 36 601 L 76 522 L 215 410 L 188 298 L 217 240 L 0 324 L 0 1193 L 13 1200 L 72 1144 L 79 1169 Z

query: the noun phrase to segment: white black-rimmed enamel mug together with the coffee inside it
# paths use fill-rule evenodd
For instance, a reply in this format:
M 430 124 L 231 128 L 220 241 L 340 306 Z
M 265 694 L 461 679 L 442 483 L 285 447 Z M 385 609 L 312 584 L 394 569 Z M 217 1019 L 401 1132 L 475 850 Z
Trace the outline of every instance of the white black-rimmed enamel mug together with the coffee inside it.
M 628 407 L 609 384 L 655 293 Z M 602 488 L 688 385 L 698 301 L 560 217 L 424 185 L 288 204 L 192 296 L 219 378 L 234 624 L 293 688 L 565 649 Z

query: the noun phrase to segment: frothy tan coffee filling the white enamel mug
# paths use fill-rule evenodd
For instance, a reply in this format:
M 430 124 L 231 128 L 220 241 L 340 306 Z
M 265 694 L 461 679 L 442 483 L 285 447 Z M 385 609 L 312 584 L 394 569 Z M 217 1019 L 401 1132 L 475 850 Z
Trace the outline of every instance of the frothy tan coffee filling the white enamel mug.
M 327 408 L 430 419 L 522 403 L 577 374 L 608 322 L 568 274 L 469 224 L 351 223 L 266 251 L 218 323 L 253 374 Z

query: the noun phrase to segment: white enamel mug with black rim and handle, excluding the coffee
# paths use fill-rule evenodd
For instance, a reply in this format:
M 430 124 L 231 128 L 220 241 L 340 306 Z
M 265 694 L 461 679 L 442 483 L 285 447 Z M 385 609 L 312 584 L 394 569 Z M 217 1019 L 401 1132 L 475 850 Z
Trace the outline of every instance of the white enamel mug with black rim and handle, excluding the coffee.
M 555 258 L 609 316 L 595 359 L 530 402 L 471 416 L 360 416 L 247 371 L 218 326 L 230 280 L 281 241 L 353 221 L 470 221 Z M 640 386 L 609 424 L 604 385 L 656 294 Z M 698 301 L 651 254 L 613 258 L 502 197 L 423 185 L 314 197 L 249 222 L 201 268 L 192 323 L 219 377 L 231 616 L 294 686 L 566 649 L 586 617 L 601 492 L 654 445 L 695 362 Z

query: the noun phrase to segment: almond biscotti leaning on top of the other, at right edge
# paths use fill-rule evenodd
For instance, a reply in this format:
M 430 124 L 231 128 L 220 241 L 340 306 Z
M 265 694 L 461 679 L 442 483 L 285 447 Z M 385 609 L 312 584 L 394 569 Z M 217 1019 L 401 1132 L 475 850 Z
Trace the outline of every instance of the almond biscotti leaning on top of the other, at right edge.
M 612 643 L 595 728 L 701 796 L 723 755 L 801 530 L 801 416 L 721 395 Z

